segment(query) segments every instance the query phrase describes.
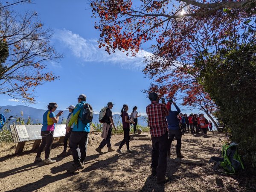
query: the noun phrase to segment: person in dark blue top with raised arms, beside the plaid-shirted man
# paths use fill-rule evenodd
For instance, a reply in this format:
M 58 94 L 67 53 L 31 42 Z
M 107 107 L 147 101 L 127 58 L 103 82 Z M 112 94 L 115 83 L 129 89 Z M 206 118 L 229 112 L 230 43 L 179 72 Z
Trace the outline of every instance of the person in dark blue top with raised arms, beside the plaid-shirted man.
M 171 105 L 174 105 L 177 111 L 171 110 Z M 176 138 L 177 145 L 176 145 L 176 155 L 178 158 L 184 158 L 184 156 L 181 154 L 181 136 L 182 132 L 179 127 L 179 119 L 177 119 L 177 115 L 180 113 L 180 108 L 176 105 L 175 102 L 168 102 L 167 103 L 167 109 L 169 110 L 169 115 L 166 116 L 166 120 L 168 123 L 168 132 L 169 132 L 169 145 L 168 145 L 168 156 L 171 156 L 171 144 L 172 140 Z

